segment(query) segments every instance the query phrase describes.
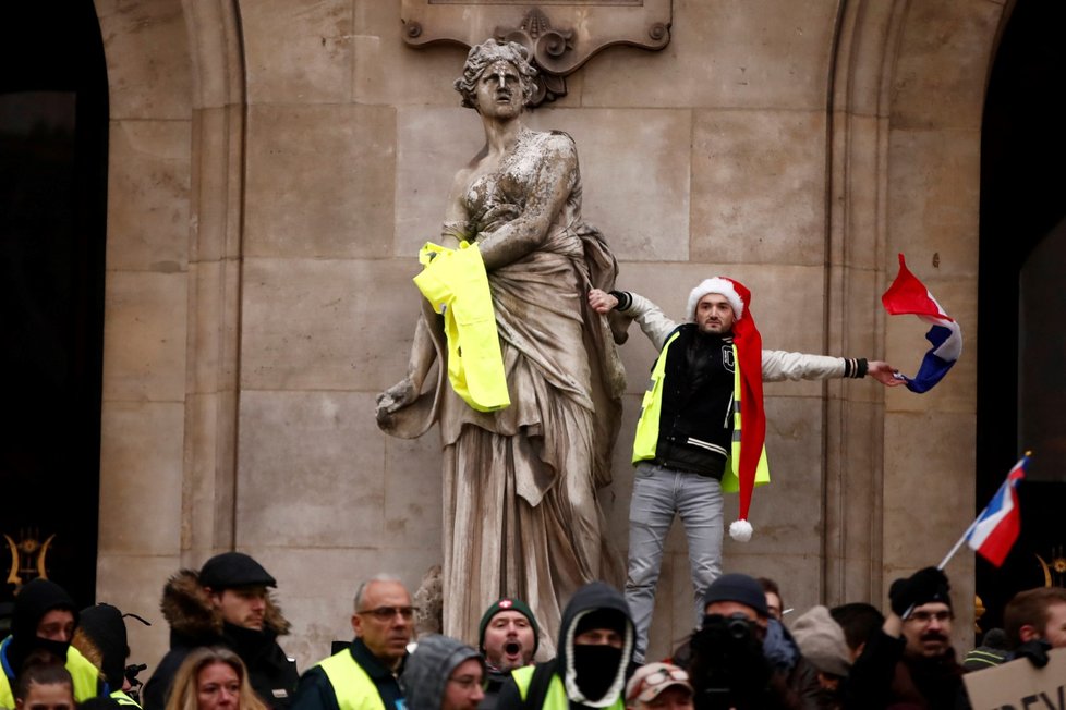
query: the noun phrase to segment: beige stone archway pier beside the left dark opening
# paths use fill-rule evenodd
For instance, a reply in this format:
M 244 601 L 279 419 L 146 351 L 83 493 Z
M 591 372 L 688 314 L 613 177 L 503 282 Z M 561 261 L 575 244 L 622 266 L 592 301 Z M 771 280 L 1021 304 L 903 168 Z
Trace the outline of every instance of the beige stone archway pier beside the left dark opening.
M 97 598 L 158 621 L 232 546 L 244 69 L 235 2 L 97 0 L 111 95 Z M 166 629 L 131 627 L 144 659 Z

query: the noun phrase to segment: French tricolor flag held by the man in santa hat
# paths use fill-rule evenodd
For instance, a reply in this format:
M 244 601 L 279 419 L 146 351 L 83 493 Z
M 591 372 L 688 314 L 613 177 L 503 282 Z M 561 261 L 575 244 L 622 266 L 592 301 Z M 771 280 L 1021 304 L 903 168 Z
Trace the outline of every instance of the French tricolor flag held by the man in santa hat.
M 950 316 L 944 313 L 936 298 L 918 278 L 907 269 L 904 255 L 899 255 L 899 273 L 881 296 L 881 303 L 892 316 L 913 314 L 933 327 L 925 333 L 932 347 L 925 353 L 914 377 L 905 378 L 911 392 L 928 392 L 944 379 L 955 360 L 962 353 L 962 331 Z

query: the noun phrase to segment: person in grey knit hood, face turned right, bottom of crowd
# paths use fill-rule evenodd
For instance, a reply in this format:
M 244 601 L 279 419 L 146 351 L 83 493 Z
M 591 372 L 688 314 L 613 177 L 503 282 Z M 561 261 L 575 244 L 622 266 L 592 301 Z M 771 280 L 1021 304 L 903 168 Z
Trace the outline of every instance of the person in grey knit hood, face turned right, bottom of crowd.
M 485 661 L 450 636 L 419 639 L 400 675 L 407 710 L 475 710 L 485 697 Z

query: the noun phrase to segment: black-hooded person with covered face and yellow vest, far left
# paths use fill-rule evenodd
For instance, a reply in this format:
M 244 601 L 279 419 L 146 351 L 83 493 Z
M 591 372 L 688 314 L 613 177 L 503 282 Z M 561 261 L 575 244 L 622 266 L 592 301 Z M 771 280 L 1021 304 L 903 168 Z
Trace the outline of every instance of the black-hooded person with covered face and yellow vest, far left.
M 47 651 L 63 662 L 74 684 L 77 702 L 98 695 L 96 666 L 71 647 L 77 625 L 74 600 L 49 579 L 37 578 L 22 587 L 15 597 L 11 635 L 0 642 L 0 708 L 14 708 L 12 688 L 23 664 L 32 654 Z

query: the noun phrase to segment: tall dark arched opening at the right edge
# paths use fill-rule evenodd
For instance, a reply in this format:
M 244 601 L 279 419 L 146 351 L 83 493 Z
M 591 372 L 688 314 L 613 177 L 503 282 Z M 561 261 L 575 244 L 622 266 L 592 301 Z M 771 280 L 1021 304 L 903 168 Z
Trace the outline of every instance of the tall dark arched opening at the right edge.
M 978 506 L 1025 450 L 1034 456 L 1019 493 L 1020 539 L 1000 570 L 978 559 L 978 595 L 989 608 L 983 628 L 1001 623 L 1016 591 L 1047 577 L 1066 585 L 1066 417 L 1057 412 L 1066 402 L 1064 86 L 1066 3 L 1018 0 L 996 52 L 982 131 Z M 1043 369 L 1047 363 L 1052 369 Z

